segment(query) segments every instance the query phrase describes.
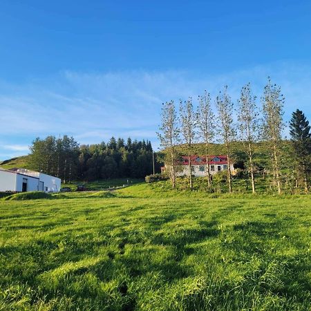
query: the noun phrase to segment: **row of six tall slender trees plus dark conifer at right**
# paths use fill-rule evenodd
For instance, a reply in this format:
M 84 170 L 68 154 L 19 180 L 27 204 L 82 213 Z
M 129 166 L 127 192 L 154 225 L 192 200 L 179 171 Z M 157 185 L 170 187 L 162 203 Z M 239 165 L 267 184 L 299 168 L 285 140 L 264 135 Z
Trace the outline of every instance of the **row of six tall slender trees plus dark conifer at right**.
M 209 149 L 212 142 L 218 141 L 225 145 L 228 161 L 227 182 L 229 192 L 232 192 L 232 144 L 238 140 L 243 142 L 244 152 L 247 153 L 247 171 L 252 182 L 252 191 L 256 192 L 256 178 L 254 165 L 254 145 L 256 142 L 266 142 L 270 151 L 270 165 L 267 171 L 272 176 L 279 194 L 283 185 L 283 171 L 281 162 L 288 155 L 283 151 L 283 106 L 285 98 L 281 88 L 272 84 L 270 77 L 263 89 L 261 106 L 252 93 L 250 84 L 241 89 L 238 102 L 234 104 L 228 94 L 227 86 L 220 91 L 214 100 L 215 109 L 211 105 L 211 96 L 207 91 L 198 96 L 198 106 L 194 109 L 193 100 L 179 102 L 179 109 L 175 102 L 165 102 L 162 106 L 161 125 L 158 136 L 160 143 L 167 151 L 167 167 L 172 187 L 176 186 L 176 168 L 178 167 L 179 144 L 185 144 L 189 157 L 189 187 L 192 189 L 191 153 L 194 142 L 205 143 L 205 156 L 209 159 Z M 216 111 L 216 113 L 214 113 Z M 236 117 L 234 117 L 236 115 Z M 302 111 L 297 109 L 292 113 L 290 121 L 293 174 L 305 191 L 309 189 L 311 169 L 311 134 L 308 120 Z M 207 165 L 207 182 L 211 189 L 212 178 Z M 297 185 L 298 186 L 298 185 Z

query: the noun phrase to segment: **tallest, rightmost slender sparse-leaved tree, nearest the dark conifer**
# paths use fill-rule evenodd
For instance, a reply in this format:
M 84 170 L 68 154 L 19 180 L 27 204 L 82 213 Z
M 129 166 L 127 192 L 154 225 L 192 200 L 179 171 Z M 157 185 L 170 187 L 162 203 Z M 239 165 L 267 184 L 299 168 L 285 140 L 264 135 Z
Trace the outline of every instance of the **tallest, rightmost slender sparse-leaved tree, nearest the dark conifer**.
M 270 144 L 271 160 L 273 170 L 274 184 L 277 185 L 279 194 L 282 193 L 281 187 L 281 143 L 283 131 L 283 105 L 284 97 L 281 94 L 281 88 L 272 85 L 270 77 L 268 77 L 267 85 L 263 92 L 263 130 L 264 137 Z

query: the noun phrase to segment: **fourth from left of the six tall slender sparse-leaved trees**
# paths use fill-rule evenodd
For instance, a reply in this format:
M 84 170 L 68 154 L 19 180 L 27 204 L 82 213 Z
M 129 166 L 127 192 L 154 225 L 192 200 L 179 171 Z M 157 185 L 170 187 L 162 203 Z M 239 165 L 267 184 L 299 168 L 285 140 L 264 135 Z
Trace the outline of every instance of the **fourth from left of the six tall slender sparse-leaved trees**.
M 233 115 L 233 103 L 231 97 L 227 94 L 227 86 L 225 86 L 223 93 L 216 97 L 216 106 L 218 110 L 218 119 L 220 122 L 220 135 L 223 143 L 225 144 L 227 152 L 227 180 L 229 186 L 229 192 L 232 192 L 232 172 L 231 172 L 231 153 L 232 153 L 232 141 L 235 137 L 234 120 Z

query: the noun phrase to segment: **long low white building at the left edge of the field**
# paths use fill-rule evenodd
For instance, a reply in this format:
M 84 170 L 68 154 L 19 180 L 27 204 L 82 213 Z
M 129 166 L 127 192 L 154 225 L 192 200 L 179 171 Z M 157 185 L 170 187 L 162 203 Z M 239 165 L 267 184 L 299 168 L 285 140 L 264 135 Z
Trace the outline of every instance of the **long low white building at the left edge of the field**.
M 61 180 L 37 171 L 28 169 L 0 169 L 0 191 L 58 192 Z

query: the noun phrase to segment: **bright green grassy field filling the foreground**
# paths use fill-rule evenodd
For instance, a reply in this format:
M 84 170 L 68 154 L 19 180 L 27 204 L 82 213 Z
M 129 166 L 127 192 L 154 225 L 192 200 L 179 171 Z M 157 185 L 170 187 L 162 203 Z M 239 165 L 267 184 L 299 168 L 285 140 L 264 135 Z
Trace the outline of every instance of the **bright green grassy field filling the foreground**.
M 3 198 L 0 310 L 311 310 L 310 223 L 307 195 Z

